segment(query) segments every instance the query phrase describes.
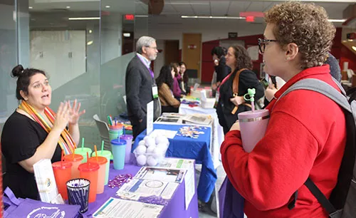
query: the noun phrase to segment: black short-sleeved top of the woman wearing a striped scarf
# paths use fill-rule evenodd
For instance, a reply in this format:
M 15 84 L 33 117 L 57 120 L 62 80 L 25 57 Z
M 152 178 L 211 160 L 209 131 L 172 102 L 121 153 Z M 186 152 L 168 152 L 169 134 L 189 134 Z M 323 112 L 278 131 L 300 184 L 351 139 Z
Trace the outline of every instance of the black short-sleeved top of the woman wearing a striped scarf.
M 18 162 L 32 157 L 47 135 L 39 123 L 16 111 L 6 120 L 1 134 L 1 151 L 6 165 L 3 187 L 10 187 L 16 197 L 38 199 L 34 174 Z M 57 145 L 51 161 L 59 160 L 61 146 Z

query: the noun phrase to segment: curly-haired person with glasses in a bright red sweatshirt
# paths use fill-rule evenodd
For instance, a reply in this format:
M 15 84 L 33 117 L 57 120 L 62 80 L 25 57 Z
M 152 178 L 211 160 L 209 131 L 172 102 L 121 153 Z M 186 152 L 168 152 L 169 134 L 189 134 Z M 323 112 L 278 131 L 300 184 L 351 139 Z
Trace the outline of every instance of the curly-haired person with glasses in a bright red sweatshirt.
M 226 174 L 245 198 L 244 212 L 253 217 L 328 217 L 304 182 L 310 177 L 327 197 L 337 182 L 345 149 L 342 109 L 311 90 L 281 94 L 304 78 L 317 78 L 333 87 L 330 68 L 323 65 L 335 36 L 325 9 L 290 1 L 266 12 L 264 38 L 258 40 L 266 73 L 286 85 L 268 105 L 271 118 L 266 135 L 247 153 L 241 146 L 239 123 L 221 145 Z M 298 198 L 295 208 L 288 204 Z

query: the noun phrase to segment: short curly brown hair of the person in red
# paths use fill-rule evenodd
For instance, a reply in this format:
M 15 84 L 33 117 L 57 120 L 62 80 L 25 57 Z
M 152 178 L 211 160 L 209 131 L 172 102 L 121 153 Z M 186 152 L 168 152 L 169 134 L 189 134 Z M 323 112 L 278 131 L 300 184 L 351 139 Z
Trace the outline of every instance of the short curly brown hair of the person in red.
M 335 26 L 321 6 L 288 1 L 273 6 L 265 13 L 267 24 L 275 24 L 273 34 L 284 48 L 288 43 L 298 45 L 301 68 L 322 66 L 335 36 Z

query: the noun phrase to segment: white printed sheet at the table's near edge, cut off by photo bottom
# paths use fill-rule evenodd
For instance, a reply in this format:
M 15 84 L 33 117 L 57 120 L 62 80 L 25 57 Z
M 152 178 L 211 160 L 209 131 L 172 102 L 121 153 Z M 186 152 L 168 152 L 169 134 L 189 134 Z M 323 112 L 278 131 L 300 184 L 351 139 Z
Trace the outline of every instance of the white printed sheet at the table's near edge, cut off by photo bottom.
M 145 204 L 110 197 L 94 214 L 95 218 L 157 218 L 163 209 L 162 205 Z

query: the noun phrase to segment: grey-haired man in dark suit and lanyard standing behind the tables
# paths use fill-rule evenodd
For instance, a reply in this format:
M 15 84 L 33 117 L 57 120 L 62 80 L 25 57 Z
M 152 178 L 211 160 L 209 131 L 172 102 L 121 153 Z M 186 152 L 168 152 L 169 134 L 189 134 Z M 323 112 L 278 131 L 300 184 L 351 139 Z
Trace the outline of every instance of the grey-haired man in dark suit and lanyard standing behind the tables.
M 125 77 L 127 115 L 134 138 L 147 127 L 147 103 L 154 100 L 154 95 L 158 100 L 157 85 L 150 68 L 151 61 L 155 61 L 158 53 L 155 38 L 140 37 L 136 43 L 136 51 L 136 56 L 127 66 Z M 155 106 L 157 108 L 157 104 Z

